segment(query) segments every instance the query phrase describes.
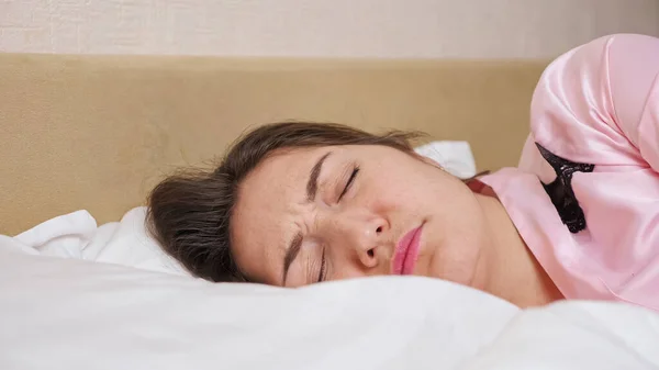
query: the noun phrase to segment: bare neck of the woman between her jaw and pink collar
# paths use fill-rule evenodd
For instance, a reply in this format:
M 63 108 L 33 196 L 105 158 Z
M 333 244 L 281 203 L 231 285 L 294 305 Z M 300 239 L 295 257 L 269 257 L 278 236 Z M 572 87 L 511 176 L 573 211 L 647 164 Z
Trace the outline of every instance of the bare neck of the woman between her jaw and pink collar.
M 481 289 L 520 307 L 545 305 L 562 295 L 530 253 L 494 197 L 476 194 L 488 218 L 492 245 L 484 251 Z

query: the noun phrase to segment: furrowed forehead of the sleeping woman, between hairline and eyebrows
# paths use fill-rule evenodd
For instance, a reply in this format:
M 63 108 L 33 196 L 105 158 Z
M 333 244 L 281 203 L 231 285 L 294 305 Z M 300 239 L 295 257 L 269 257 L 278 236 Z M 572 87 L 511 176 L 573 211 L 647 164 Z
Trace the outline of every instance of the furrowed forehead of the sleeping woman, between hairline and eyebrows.
M 301 221 L 310 170 L 330 150 L 342 149 L 273 153 L 243 180 L 232 216 L 232 245 L 238 266 L 248 277 L 268 283 L 280 278 L 287 244 Z

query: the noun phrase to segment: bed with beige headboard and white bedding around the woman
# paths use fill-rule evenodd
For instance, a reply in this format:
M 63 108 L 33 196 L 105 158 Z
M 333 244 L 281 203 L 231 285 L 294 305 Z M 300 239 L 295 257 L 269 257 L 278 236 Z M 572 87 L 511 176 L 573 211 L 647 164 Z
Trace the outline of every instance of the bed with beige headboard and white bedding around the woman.
M 640 307 L 521 311 L 418 277 L 211 284 L 144 229 L 164 175 L 266 122 L 418 130 L 515 166 L 546 65 L 0 54 L 0 368 L 656 369 Z

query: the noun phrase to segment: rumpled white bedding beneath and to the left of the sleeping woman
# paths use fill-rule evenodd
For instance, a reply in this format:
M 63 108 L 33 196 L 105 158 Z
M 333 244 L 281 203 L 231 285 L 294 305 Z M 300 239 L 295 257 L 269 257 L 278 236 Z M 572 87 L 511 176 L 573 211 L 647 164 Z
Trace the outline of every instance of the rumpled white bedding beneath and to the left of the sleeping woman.
M 212 284 L 154 255 L 143 215 L 0 236 L 0 369 L 659 368 L 659 315 L 644 309 L 520 311 L 420 277 Z

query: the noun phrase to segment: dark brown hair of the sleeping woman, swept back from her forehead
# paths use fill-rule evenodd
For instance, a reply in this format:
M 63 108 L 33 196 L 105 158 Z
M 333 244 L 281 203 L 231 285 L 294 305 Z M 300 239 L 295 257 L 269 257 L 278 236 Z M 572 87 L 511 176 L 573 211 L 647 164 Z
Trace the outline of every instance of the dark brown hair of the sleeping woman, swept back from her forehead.
M 231 249 L 231 218 L 245 177 L 275 150 L 333 145 L 384 145 L 413 153 L 420 133 L 375 135 L 339 124 L 284 122 L 239 138 L 212 170 L 186 169 L 148 197 L 147 227 L 163 249 L 194 276 L 215 282 L 247 281 Z

